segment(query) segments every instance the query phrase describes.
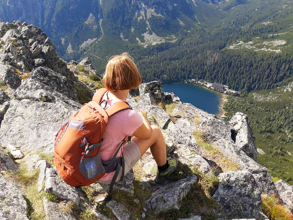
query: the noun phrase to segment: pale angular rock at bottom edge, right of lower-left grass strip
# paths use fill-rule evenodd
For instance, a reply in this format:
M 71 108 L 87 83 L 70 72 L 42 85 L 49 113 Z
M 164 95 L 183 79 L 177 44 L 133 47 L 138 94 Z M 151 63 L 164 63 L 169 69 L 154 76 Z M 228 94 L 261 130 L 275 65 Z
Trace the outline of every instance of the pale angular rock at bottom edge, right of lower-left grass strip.
M 64 213 L 58 203 L 51 202 L 46 197 L 44 197 L 43 203 L 46 220 L 75 220 L 70 213 Z

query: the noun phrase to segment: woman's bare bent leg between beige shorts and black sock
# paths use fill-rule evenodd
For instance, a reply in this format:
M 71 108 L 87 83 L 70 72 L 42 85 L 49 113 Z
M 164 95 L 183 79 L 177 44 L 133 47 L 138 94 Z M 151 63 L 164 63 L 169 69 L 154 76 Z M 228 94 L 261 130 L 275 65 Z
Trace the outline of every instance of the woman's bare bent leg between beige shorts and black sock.
M 139 146 L 141 157 L 146 153 L 147 149 L 151 148 L 151 154 L 157 165 L 163 166 L 166 164 L 167 160 L 165 140 L 158 126 L 152 125 L 151 128 L 153 129 L 151 138 L 147 140 L 134 138 L 133 141 Z

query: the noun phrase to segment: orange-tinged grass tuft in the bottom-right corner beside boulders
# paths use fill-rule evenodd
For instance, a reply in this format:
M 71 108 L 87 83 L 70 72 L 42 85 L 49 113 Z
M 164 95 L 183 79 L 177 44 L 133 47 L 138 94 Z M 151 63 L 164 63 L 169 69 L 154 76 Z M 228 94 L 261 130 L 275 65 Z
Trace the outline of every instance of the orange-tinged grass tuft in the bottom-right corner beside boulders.
M 293 220 L 291 212 L 279 202 L 276 195 L 262 195 L 261 209 L 271 220 Z

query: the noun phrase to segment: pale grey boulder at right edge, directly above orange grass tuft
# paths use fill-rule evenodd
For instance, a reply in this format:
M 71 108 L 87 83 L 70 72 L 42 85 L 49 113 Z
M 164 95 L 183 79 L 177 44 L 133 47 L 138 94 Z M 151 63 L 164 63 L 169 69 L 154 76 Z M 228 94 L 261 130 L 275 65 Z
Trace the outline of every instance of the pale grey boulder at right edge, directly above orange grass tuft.
M 275 186 L 283 202 L 293 209 L 293 186 L 284 180 L 278 180 L 275 182 Z

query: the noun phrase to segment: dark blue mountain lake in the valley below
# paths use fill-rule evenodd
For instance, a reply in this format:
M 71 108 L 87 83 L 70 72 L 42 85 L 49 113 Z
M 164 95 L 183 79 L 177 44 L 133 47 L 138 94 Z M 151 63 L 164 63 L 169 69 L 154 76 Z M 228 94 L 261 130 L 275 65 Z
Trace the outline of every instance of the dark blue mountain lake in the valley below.
M 221 95 L 209 89 L 187 83 L 164 84 L 164 92 L 173 92 L 182 102 L 188 102 L 210 114 L 219 113 Z

